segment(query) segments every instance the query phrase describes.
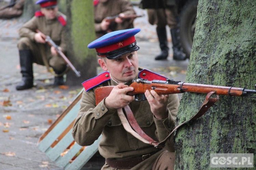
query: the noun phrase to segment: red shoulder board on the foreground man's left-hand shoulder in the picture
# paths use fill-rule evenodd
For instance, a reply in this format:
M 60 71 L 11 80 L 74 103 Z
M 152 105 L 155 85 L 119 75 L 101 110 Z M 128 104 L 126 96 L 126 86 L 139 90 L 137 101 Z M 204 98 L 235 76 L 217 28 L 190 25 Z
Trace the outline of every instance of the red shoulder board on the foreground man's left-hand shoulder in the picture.
M 101 73 L 97 77 L 94 77 L 92 79 L 86 80 L 82 83 L 86 91 L 89 91 L 90 89 L 104 83 L 105 81 L 110 80 L 110 74 L 108 71 Z

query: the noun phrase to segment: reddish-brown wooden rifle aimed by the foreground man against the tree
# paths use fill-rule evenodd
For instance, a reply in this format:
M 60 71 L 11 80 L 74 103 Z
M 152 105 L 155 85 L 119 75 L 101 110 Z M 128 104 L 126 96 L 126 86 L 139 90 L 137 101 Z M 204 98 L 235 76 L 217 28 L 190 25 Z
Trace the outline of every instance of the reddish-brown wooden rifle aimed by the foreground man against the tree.
M 138 101 L 146 100 L 144 96 L 144 92 L 146 90 L 155 90 L 158 95 L 179 94 L 184 92 L 208 94 L 211 91 L 215 91 L 216 95 L 228 96 L 247 96 L 250 94 L 256 94 L 256 90 L 247 90 L 245 88 L 183 83 L 169 79 L 167 81 L 147 81 L 143 79 L 135 79 L 133 80 L 133 83 L 129 87 L 133 87 L 134 90 L 128 92 L 127 95 L 134 95 L 135 100 Z M 96 105 L 99 102 L 101 102 L 105 97 L 108 97 L 113 88 L 114 86 L 105 86 L 97 88 L 95 90 Z

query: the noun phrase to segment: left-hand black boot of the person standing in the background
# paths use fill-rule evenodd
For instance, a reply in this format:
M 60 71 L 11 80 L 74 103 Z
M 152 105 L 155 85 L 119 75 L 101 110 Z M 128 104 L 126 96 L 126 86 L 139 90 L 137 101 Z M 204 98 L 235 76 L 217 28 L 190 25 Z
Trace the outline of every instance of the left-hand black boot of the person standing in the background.
M 166 60 L 169 55 L 166 27 L 157 27 L 156 32 L 160 44 L 161 53 L 155 57 L 155 60 Z

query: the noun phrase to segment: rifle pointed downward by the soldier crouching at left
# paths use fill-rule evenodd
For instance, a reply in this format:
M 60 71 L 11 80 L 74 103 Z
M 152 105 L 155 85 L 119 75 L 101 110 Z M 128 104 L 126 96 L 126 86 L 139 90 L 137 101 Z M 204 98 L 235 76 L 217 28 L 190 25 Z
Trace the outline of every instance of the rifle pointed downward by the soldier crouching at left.
M 42 33 L 41 31 L 39 31 L 38 29 L 37 30 L 35 30 L 37 33 Z M 80 77 L 81 75 L 80 75 L 80 71 L 77 71 L 76 69 L 75 69 L 75 67 L 73 66 L 73 64 L 69 61 L 69 59 L 66 57 L 66 55 L 59 49 L 59 46 L 57 46 L 55 43 L 54 43 L 54 41 L 51 39 L 51 37 L 49 37 L 48 35 L 45 35 L 45 41 L 46 41 L 46 43 L 49 45 L 49 46 L 53 46 L 54 48 L 55 48 L 55 50 L 58 52 L 58 54 L 63 58 L 63 60 L 67 63 L 67 66 L 68 67 L 70 67 L 73 71 L 74 71 L 74 73 L 75 73 L 75 75 L 77 76 L 77 77 Z

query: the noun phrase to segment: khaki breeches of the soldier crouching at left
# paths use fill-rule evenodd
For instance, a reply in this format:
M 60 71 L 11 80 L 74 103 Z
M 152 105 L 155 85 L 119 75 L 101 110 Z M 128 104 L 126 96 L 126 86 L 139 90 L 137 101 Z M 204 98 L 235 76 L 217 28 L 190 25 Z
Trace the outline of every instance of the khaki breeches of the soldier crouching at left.
M 22 37 L 18 41 L 19 50 L 31 50 L 33 54 L 33 63 L 45 66 L 43 57 L 46 58 L 46 62 L 55 71 L 64 71 L 66 69 L 66 63 L 60 56 L 54 56 L 51 54 L 51 49 L 47 44 L 40 44 L 35 41 L 31 41 L 28 37 Z

